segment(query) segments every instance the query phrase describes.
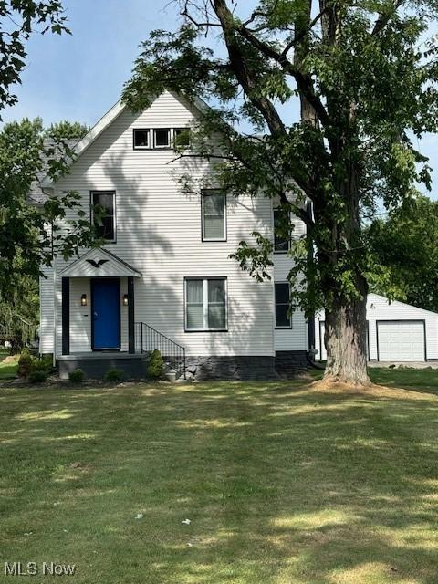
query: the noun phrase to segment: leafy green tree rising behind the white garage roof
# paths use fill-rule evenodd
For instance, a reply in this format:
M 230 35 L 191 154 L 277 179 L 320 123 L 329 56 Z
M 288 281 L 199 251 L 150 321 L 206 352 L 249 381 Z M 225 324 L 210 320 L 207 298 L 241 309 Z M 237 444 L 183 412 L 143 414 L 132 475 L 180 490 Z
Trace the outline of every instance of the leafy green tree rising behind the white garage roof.
M 373 291 L 438 312 L 438 202 L 419 197 L 370 225 L 385 278 Z

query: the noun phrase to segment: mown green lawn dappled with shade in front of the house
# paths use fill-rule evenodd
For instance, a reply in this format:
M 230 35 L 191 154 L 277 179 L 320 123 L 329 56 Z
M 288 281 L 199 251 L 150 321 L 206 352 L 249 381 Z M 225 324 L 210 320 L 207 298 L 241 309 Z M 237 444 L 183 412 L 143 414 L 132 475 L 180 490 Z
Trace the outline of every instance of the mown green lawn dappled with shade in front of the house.
M 371 374 L 414 387 L 410 370 Z M 76 564 L 60 579 L 75 584 L 436 584 L 437 388 L 426 370 L 420 391 L 0 389 L 2 571 L 21 560 Z

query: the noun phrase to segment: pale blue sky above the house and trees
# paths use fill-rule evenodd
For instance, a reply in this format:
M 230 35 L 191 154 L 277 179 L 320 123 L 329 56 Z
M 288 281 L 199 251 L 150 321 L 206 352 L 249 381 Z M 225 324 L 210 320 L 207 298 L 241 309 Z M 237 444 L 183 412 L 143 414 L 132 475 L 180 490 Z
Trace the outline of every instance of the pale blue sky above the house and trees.
M 93 125 L 120 98 L 139 45 L 155 28 L 178 23 L 170 0 L 64 0 L 72 36 L 34 36 L 27 46 L 27 67 L 16 89 L 18 103 L 4 121 L 36 118 L 46 125 L 77 120 Z M 254 0 L 240 0 L 245 12 Z M 438 138 L 416 146 L 429 156 L 438 195 Z

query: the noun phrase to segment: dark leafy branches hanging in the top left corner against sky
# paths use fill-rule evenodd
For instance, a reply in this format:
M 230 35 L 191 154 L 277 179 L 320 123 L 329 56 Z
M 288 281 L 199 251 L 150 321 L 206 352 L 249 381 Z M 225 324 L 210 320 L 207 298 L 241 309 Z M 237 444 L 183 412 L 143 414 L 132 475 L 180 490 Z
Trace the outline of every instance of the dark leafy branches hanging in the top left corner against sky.
M 33 33 L 69 33 L 58 0 L 0 0 L 0 110 L 14 105 L 11 89 L 26 67 L 26 41 Z

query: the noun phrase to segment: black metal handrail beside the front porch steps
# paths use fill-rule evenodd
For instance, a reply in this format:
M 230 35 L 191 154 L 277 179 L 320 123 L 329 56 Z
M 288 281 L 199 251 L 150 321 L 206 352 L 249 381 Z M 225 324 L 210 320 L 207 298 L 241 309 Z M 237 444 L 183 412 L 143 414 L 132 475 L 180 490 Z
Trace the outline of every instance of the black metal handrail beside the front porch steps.
M 164 362 L 185 380 L 185 349 L 145 322 L 135 323 L 135 350 L 150 353 L 158 349 Z

